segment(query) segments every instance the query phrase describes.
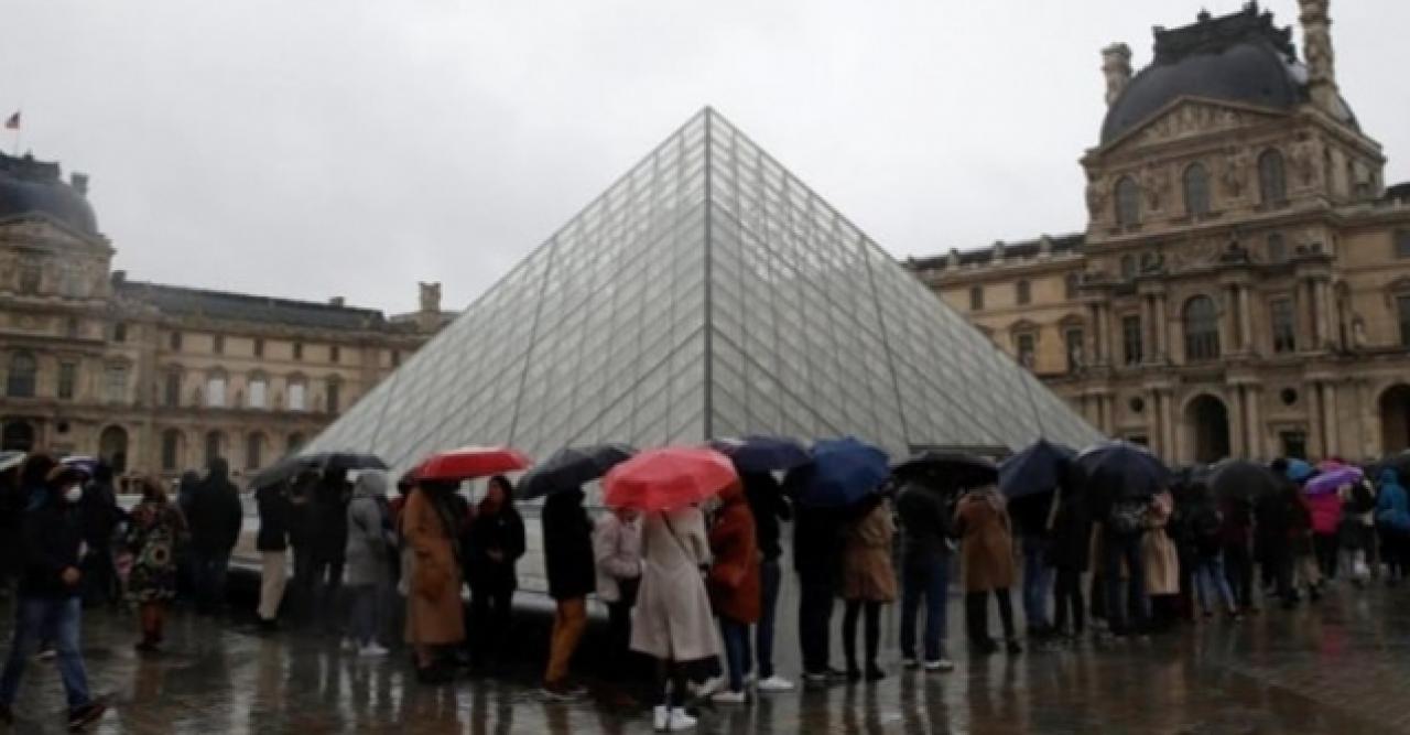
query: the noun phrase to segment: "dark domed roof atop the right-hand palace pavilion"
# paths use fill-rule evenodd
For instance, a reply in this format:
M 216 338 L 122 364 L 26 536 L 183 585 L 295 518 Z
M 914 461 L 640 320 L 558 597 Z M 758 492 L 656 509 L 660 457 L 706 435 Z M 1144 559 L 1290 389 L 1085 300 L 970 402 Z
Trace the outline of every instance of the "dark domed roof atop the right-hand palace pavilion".
M 1101 142 L 1111 142 L 1180 97 L 1207 97 L 1275 110 L 1307 100 L 1307 69 L 1297 61 L 1292 30 L 1276 28 L 1256 4 L 1231 16 L 1176 30 L 1155 30 L 1155 61 L 1107 111 Z M 1342 102 L 1342 121 L 1356 126 Z

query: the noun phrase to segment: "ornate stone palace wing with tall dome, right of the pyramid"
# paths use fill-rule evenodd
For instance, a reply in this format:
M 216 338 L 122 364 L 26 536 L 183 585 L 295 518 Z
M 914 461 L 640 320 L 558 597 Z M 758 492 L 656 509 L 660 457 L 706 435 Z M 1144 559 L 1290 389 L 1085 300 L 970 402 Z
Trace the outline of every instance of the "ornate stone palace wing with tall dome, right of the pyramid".
M 1103 51 L 1084 233 L 908 265 L 1101 430 L 1175 463 L 1410 446 L 1410 185 L 1338 92 L 1328 0 Z M 1393 92 L 1393 90 L 1386 90 Z

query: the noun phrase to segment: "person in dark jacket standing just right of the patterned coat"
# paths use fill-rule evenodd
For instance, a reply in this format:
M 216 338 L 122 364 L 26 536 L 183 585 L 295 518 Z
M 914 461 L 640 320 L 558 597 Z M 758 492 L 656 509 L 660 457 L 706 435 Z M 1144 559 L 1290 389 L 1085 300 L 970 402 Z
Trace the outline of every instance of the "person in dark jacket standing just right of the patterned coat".
M 190 552 L 196 580 L 196 608 L 217 614 L 226 604 L 230 552 L 240 540 L 245 512 L 240 491 L 230 481 L 230 466 L 216 457 L 190 504 Z

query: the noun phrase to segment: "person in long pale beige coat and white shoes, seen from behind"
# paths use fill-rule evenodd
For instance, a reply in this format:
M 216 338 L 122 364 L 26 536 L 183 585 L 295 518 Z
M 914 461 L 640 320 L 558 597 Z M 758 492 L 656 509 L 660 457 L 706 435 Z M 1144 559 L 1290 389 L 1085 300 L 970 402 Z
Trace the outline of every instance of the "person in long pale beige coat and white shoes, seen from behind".
M 647 514 L 642 560 L 632 650 L 656 659 L 654 729 L 681 732 L 695 727 L 695 718 L 685 712 L 687 667 L 719 656 L 709 594 L 699 573 L 711 564 L 699 508 Z

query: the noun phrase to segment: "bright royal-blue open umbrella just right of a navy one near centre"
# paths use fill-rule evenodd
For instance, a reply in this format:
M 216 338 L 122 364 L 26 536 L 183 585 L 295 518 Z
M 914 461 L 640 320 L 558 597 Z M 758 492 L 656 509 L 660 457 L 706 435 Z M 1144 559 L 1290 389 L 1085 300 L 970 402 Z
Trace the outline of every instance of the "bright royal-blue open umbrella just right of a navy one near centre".
M 785 490 L 811 508 L 847 508 L 891 475 L 890 457 L 850 436 L 812 446 L 812 463 L 788 473 Z

